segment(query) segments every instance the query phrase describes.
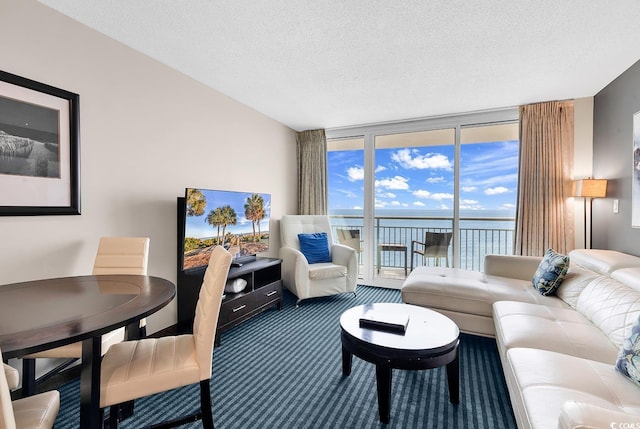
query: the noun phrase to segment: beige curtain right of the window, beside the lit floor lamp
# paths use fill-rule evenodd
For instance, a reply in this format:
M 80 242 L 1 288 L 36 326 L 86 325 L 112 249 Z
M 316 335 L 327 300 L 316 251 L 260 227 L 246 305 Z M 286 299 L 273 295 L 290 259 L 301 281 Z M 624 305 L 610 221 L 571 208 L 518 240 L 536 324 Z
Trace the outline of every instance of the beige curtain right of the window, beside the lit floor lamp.
M 573 101 L 520 106 L 520 171 L 516 255 L 573 249 L 573 210 L 567 204 L 573 169 Z

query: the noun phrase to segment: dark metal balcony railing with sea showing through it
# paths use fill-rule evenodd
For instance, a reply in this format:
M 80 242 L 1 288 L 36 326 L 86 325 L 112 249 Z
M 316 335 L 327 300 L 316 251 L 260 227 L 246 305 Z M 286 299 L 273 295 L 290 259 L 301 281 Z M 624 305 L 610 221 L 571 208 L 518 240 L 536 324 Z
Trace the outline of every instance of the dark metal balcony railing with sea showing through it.
M 362 217 L 331 216 L 334 236 L 336 228 L 357 229 L 360 237 L 364 237 Z M 484 256 L 487 254 L 511 255 L 513 253 L 513 233 L 515 219 L 512 217 L 464 217 L 460 218 L 460 230 L 456 238 L 456 245 L 460 249 L 460 268 L 482 271 Z M 453 219 L 447 217 L 376 217 L 374 221 L 374 245 L 380 243 L 394 243 L 407 248 L 407 257 L 413 260 L 413 266 L 423 265 L 420 255 L 411 254 L 411 242 L 424 241 L 425 232 L 451 232 Z M 453 265 L 453 245 L 449 246 L 449 264 Z M 364 243 L 363 243 L 364 247 Z M 362 255 L 360 255 L 362 257 Z M 398 251 L 374 252 L 374 266 L 383 268 L 403 269 L 404 254 Z M 435 265 L 434 258 L 426 258 L 424 264 Z M 444 260 L 440 261 L 444 265 Z M 411 259 L 407 262 L 410 267 Z

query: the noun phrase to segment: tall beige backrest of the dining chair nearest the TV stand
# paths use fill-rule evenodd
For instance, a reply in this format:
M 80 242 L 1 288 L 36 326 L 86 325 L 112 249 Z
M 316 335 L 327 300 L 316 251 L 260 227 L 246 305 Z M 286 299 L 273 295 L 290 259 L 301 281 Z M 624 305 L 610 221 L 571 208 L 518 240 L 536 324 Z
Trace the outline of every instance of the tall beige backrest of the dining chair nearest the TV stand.
M 209 266 L 198 295 L 195 317 L 193 319 L 193 337 L 196 343 L 196 356 L 200 366 L 200 380 L 211 378 L 213 363 L 213 342 L 216 336 L 218 315 L 222 304 L 222 293 L 231 267 L 231 253 L 224 247 L 216 246 L 211 252 Z

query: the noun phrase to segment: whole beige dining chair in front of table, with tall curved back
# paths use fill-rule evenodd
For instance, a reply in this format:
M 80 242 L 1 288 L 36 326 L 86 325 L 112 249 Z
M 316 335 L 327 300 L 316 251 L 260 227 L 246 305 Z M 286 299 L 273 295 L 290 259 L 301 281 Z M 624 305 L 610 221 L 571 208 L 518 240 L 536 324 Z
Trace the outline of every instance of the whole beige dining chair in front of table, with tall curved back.
M 200 413 L 154 428 L 175 427 L 201 418 L 205 428 L 213 429 L 210 392 L 213 341 L 230 266 L 231 254 L 216 246 L 198 296 L 193 334 L 144 338 L 111 346 L 102 359 L 100 373 L 103 413 L 105 407 L 111 407 L 109 415 L 118 416 L 120 403 L 199 382 Z M 117 429 L 117 420 L 110 419 L 111 429 Z

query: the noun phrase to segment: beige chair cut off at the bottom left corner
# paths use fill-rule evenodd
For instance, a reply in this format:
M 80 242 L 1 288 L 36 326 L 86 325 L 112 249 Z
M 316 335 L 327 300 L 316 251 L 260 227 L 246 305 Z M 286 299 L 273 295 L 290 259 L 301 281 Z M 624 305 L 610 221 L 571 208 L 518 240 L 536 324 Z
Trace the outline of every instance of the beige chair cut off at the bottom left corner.
M 52 428 L 60 410 L 60 393 L 51 390 L 12 401 L 11 389 L 18 387 L 19 381 L 18 371 L 4 364 L 3 370 L 0 370 L 0 428 Z

